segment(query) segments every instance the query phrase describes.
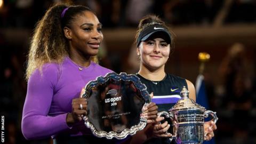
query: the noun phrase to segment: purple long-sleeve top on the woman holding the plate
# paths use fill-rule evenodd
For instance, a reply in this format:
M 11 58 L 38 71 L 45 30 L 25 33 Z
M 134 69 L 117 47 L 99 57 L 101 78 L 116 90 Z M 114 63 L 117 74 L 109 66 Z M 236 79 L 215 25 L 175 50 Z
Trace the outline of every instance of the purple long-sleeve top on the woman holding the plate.
M 41 139 L 56 135 L 83 135 L 91 131 L 82 123 L 68 127 L 67 113 L 72 111 L 71 102 L 78 98 L 82 88 L 98 76 L 112 72 L 91 62 L 79 70 L 65 58 L 63 63 L 47 63 L 28 79 L 28 90 L 23 107 L 21 129 L 26 139 Z

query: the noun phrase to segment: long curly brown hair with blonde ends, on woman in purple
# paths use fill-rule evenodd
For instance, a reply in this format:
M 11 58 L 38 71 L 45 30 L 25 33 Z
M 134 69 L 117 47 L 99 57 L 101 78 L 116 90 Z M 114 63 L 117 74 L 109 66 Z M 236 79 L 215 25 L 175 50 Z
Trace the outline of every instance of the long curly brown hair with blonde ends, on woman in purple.
M 68 56 L 68 40 L 64 36 L 63 27 L 70 27 L 76 15 L 84 11 L 91 10 L 82 5 L 55 4 L 46 11 L 44 17 L 37 22 L 31 39 L 27 80 L 35 69 L 41 69 L 45 63 L 61 63 Z M 92 61 L 98 63 L 97 56 L 93 56 Z

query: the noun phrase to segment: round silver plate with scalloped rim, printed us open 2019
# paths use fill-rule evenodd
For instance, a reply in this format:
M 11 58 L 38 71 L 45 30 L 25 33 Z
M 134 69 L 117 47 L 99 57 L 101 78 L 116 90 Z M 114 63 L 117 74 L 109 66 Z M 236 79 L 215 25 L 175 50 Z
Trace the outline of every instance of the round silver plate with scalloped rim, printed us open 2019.
M 124 139 L 142 130 L 147 119 L 141 114 L 151 98 L 136 75 L 108 73 L 85 86 L 84 124 L 97 137 Z

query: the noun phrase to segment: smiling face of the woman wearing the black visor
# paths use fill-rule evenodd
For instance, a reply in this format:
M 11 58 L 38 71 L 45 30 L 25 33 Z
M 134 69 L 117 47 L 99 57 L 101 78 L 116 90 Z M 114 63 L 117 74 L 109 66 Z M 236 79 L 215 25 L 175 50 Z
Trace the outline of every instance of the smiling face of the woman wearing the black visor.
M 140 43 L 137 53 L 140 55 L 142 67 L 149 70 L 164 69 L 170 54 L 170 44 L 163 38 L 150 38 Z

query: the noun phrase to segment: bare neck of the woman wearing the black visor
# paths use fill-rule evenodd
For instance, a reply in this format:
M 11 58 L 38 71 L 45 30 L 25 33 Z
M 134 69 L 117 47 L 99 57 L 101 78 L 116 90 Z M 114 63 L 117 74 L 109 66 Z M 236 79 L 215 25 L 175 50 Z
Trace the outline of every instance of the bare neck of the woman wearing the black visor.
M 162 81 L 165 77 L 164 65 L 160 68 L 150 69 L 141 63 L 138 74 L 150 81 Z

